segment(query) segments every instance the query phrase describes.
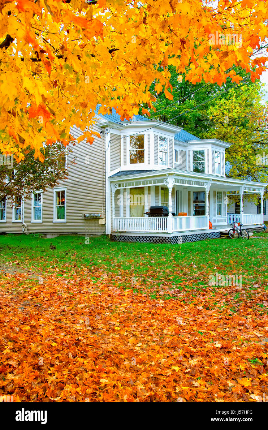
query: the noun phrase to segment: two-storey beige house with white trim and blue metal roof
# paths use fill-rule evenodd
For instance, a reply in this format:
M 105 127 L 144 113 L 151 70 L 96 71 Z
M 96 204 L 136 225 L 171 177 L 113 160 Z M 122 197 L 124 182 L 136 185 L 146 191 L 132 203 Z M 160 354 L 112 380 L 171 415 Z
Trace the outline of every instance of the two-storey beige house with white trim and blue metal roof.
M 33 190 L 31 199 L 18 197 L 13 206 L 3 203 L 1 232 L 106 233 L 112 240 L 182 243 L 219 237 L 238 219 L 251 231 L 262 230 L 267 184 L 225 176 L 229 143 L 201 140 L 140 115 L 121 121 L 114 109 L 99 109 L 93 129 L 101 137 L 74 146 L 68 179 L 45 193 Z M 71 133 L 81 135 L 77 127 Z M 260 196 L 258 207 L 243 208 L 248 194 Z M 228 209 L 233 198 L 239 209 L 237 203 Z M 148 216 L 151 206 L 166 206 L 168 216 Z

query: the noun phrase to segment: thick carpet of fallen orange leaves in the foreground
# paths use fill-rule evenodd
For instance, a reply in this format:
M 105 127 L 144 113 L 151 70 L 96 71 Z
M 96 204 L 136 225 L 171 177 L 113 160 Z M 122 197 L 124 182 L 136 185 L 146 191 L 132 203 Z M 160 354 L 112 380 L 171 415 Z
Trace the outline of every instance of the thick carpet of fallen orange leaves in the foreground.
M 30 271 L 0 282 L 0 395 L 17 402 L 258 402 L 268 395 L 264 287 L 250 301 L 250 285 L 206 286 L 194 297 L 175 289 L 163 300 L 167 283 L 151 299 L 117 287 L 122 277 L 102 269 L 44 276 L 41 285 Z

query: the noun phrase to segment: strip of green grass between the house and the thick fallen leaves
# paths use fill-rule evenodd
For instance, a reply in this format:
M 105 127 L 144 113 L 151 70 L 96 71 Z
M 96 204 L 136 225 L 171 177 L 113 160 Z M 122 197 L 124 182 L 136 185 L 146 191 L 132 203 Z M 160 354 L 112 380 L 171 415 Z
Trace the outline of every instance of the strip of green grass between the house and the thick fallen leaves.
M 255 236 L 258 236 L 256 233 Z M 115 243 L 106 237 L 61 236 L 43 239 L 38 235 L 2 235 L 2 264 L 28 268 L 36 273 L 58 272 L 72 277 L 85 266 L 109 274 L 109 282 L 143 292 L 157 286 L 203 288 L 209 274 L 243 276 L 243 285 L 266 286 L 268 282 L 267 242 L 263 239 L 243 241 L 204 240 L 177 245 L 150 243 Z M 52 246 L 51 246 L 52 244 Z M 52 249 L 55 247 L 55 249 Z M 82 275 L 83 276 L 83 275 Z M 95 273 L 92 273 L 94 279 Z M 169 294 L 165 296 L 169 298 Z

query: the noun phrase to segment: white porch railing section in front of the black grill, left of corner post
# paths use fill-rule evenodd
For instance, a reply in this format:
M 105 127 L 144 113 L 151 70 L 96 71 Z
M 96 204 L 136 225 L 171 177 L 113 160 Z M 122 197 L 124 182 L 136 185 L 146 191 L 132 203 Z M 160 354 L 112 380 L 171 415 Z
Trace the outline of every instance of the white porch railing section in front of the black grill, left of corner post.
M 114 218 L 113 230 L 167 232 L 167 217 Z

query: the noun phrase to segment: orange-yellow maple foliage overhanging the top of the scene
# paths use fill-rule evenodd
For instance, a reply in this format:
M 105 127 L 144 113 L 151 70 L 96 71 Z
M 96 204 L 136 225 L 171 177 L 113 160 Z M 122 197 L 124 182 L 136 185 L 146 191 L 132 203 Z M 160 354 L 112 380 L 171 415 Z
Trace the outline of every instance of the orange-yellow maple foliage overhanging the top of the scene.
M 88 4 L 91 3 L 91 4 Z M 0 151 L 23 158 L 43 142 L 67 145 L 76 124 L 89 143 L 94 108 L 121 118 L 153 100 L 172 99 L 168 66 L 191 83 L 220 85 L 234 65 L 258 79 L 265 70 L 266 2 L 220 0 L 2 0 L 0 3 Z M 222 34 L 211 44 L 211 34 Z M 242 42 L 226 43 L 229 34 Z M 226 39 L 227 38 L 227 39 Z M 225 43 L 222 43 L 225 40 Z M 87 128 L 86 128 L 87 127 Z

